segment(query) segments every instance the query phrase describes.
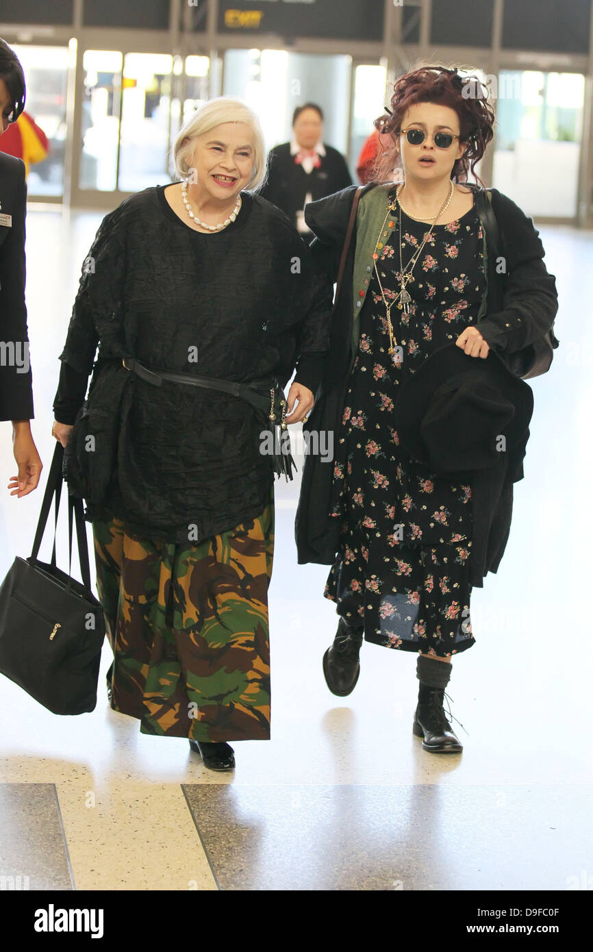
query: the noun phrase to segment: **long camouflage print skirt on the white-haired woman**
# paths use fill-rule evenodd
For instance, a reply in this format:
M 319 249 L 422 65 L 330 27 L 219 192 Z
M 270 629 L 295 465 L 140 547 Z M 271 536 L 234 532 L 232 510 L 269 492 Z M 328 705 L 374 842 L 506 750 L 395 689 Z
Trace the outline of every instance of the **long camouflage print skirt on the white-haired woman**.
M 259 518 L 193 545 L 92 529 L 113 710 L 144 734 L 268 740 L 273 486 Z

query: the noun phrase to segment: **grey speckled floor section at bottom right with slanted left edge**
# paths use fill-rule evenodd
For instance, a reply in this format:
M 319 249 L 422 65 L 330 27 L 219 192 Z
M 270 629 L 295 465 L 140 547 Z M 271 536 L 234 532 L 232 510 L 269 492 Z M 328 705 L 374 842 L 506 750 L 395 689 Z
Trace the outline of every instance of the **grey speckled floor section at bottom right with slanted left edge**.
M 591 868 L 581 786 L 185 790 L 221 889 L 558 891 Z

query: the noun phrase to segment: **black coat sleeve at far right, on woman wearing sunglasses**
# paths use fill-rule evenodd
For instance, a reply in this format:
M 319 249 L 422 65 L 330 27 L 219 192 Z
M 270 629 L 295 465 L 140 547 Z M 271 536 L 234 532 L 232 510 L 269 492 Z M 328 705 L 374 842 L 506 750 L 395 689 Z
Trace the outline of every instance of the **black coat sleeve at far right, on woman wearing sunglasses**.
M 492 189 L 492 208 L 504 243 L 504 307 L 478 325 L 484 340 L 512 353 L 544 336 L 558 311 L 556 279 L 544 265 L 544 246 L 531 218 L 511 199 Z

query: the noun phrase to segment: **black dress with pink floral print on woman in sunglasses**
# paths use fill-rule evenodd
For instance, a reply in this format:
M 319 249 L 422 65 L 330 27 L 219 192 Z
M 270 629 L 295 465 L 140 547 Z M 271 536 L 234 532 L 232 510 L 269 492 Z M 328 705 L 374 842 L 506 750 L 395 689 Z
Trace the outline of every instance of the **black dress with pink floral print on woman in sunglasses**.
M 394 196 L 395 190 L 389 200 Z M 404 268 L 428 230 L 402 211 Z M 334 457 L 330 513 L 342 521 L 341 543 L 326 598 L 350 625 L 364 625 L 366 641 L 439 657 L 474 644 L 471 486 L 414 462 L 399 445 L 392 411 L 407 374 L 475 325 L 485 283 L 482 239 L 475 205 L 457 221 L 433 228 L 407 285 L 409 313 L 391 309 L 401 346 L 393 355 L 374 268 L 368 274 Z M 376 265 L 391 300 L 400 291 L 399 207 L 387 218 L 381 241 Z

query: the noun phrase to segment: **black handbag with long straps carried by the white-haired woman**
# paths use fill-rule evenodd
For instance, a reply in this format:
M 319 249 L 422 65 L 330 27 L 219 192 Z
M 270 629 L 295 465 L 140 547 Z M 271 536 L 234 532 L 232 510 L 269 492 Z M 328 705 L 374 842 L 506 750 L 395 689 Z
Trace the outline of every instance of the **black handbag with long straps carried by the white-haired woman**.
M 37 558 L 55 499 L 57 528 L 64 448 L 56 443 L 32 551 L 18 556 L 0 586 L 0 672 L 54 714 L 84 714 L 97 704 L 105 619 L 90 590 L 89 548 L 81 500 L 69 496 L 69 572 L 72 516 L 82 584 L 55 563 Z

